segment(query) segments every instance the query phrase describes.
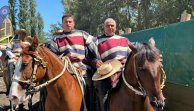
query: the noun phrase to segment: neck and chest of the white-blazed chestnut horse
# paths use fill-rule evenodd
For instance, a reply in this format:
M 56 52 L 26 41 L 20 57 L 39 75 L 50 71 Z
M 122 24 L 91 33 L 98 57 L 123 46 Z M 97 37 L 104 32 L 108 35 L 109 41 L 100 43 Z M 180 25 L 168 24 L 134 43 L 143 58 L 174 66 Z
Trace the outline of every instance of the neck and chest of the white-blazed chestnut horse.
M 47 71 L 43 80 L 49 81 L 59 75 L 63 68 L 63 62 L 49 50 L 42 48 L 40 56 L 47 63 Z M 79 111 L 82 101 L 82 93 L 77 80 L 65 70 L 61 77 L 46 86 L 47 97 L 46 110 Z M 61 105 L 62 104 L 62 105 Z M 51 107 L 52 106 L 52 107 Z

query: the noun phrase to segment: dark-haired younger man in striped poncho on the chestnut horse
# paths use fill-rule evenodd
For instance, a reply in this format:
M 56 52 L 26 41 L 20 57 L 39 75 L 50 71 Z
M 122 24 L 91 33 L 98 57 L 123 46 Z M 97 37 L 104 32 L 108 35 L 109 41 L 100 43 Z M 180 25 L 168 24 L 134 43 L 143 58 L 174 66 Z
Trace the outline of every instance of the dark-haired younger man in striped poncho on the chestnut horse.
M 75 29 L 74 16 L 71 14 L 62 16 L 62 26 L 63 32 L 59 33 L 54 38 L 53 41 L 55 43 L 52 42 L 52 44 L 49 45 L 49 49 L 58 56 L 61 54 L 67 56 L 73 66 L 76 67 L 84 77 L 88 88 L 91 89 L 91 77 L 93 72 L 88 63 L 90 60 L 93 60 L 93 58 L 97 58 L 96 38 L 85 31 Z M 92 93 L 87 94 L 91 95 Z M 92 97 L 90 97 L 90 99 L 91 98 Z M 91 111 L 92 100 L 88 103 L 90 104 L 87 105 L 88 110 Z

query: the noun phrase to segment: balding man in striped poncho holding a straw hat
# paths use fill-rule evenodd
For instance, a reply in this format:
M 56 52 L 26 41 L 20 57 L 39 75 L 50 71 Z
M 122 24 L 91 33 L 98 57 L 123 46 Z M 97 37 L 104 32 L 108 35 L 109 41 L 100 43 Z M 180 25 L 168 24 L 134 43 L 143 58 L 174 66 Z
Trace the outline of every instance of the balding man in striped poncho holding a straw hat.
M 104 22 L 105 34 L 98 38 L 98 52 L 101 60 L 96 61 L 97 72 L 93 75 L 96 93 L 99 97 L 101 111 L 105 111 L 104 97 L 108 90 L 115 87 L 121 75 L 121 67 L 130 53 L 128 39 L 116 35 L 116 22 L 108 18 Z

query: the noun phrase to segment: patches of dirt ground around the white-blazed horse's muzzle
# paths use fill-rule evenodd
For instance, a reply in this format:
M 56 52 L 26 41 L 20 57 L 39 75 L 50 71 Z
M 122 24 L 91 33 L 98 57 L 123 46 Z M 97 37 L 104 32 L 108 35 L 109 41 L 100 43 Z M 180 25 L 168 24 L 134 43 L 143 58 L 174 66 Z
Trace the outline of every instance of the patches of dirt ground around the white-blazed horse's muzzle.
M 6 88 L 3 78 L 0 77 L 0 111 L 10 111 L 10 102 L 5 94 Z M 35 94 L 32 98 L 33 105 L 39 101 L 39 93 Z M 28 103 L 24 103 L 24 108 L 28 111 Z

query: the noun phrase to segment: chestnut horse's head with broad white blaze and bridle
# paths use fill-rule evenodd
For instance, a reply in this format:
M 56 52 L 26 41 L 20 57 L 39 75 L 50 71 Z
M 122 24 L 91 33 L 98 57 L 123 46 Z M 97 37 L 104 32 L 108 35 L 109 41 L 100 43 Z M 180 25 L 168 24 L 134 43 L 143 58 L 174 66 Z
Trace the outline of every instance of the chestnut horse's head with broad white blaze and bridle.
M 44 77 L 46 64 L 39 58 L 36 51 L 37 47 L 37 37 L 34 37 L 31 45 L 22 47 L 21 57 L 16 63 L 9 93 L 9 99 L 15 105 L 29 99 L 30 94 L 28 90 Z

